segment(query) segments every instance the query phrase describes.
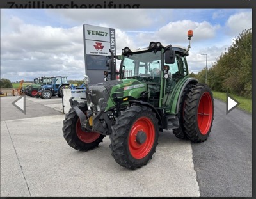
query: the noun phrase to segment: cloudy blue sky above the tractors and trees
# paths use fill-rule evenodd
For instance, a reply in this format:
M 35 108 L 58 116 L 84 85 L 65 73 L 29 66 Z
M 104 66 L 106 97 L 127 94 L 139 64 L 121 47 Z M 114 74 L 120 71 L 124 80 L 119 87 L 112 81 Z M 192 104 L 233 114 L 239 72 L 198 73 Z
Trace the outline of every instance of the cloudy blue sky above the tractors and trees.
M 116 54 L 151 41 L 189 45 L 189 72 L 212 67 L 243 29 L 251 9 L 1 9 L 1 78 L 33 81 L 41 76 L 83 79 L 83 24 L 114 28 Z M 119 68 L 119 67 L 117 67 Z

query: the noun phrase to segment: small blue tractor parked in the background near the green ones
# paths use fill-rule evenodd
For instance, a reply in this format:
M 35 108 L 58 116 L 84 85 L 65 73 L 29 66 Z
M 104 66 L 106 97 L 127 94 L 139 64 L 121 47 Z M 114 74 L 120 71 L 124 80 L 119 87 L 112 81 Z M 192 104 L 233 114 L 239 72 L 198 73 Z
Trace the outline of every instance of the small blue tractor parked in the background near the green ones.
M 52 77 L 51 84 L 42 85 L 38 90 L 38 97 L 43 99 L 51 99 L 52 96 L 58 95 L 62 97 L 63 88 L 71 88 L 68 84 L 68 79 L 66 76 L 56 76 Z

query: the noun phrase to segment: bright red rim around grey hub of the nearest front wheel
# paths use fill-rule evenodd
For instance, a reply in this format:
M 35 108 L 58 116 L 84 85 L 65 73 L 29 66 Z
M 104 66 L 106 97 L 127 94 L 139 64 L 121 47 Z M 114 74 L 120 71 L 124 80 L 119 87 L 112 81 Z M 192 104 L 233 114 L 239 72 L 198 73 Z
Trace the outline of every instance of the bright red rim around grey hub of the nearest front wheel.
M 147 139 L 144 143 L 140 144 L 136 142 L 136 135 L 139 131 L 145 132 Z M 136 159 L 142 159 L 146 157 L 153 147 L 155 141 L 155 128 L 153 122 L 146 118 L 141 117 L 131 127 L 129 134 L 129 150 L 132 157 Z

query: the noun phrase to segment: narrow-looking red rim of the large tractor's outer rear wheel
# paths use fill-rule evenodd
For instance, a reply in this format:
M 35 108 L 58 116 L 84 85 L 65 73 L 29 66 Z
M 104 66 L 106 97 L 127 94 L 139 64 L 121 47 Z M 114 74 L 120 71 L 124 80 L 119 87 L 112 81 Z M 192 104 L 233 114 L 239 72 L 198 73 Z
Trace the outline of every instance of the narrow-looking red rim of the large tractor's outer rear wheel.
M 197 121 L 201 134 L 205 135 L 211 128 L 212 122 L 212 98 L 209 92 L 204 92 L 199 101 Z

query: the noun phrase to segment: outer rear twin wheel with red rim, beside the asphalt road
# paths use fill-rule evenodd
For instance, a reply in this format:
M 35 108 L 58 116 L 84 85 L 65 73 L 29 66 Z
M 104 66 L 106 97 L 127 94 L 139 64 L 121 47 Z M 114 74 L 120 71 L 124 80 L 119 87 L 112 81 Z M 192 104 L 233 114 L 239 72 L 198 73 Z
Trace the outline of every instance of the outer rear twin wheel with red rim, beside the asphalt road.
M 206 84 L 196 84 L 189 90 L 184 107 L 184 129 L 193 142 L 205 141 L 212 128 L 214 102 Z

